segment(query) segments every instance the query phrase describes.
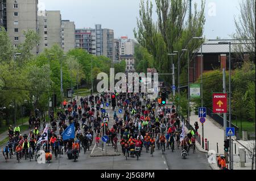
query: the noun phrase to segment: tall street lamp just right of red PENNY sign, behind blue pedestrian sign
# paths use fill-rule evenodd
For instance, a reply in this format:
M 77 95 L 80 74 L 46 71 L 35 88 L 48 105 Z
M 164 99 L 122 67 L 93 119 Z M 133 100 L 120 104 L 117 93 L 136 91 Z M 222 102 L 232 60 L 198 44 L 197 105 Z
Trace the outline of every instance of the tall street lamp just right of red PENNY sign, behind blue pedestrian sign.
M 231 120 L 231 42 L 230 41 L 220 41 L 220 42 L 218 42 L 218 44 L 229 45 L 229 127 L 232 127 L 232 120 Z M 232 144 L 231 136 L 229 136 L 230 149 L 232 148 L 231 144 Z M 231 153 L 232 153 L 232 151 L 229 151 L 229 168 L 233 169 Z

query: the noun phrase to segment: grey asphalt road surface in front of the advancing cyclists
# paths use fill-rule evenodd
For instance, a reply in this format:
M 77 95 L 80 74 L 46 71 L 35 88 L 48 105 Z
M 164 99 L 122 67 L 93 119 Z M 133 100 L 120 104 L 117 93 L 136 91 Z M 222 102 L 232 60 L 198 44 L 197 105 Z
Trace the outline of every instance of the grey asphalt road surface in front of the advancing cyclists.
M 113 116 L 113 111 L 107 109 L 110 117 Z M 120 114 L 119 114 L 120 115 Z M 120 115 L 123 116 L 123 115 Z M 110 126 L 113 124 L 113 119 L 110 119 Z M 118 137 L 119 139 L 119 137 Z M 94 142 L 93 142 L 94 145 Z M 101 144 L 100 144 L 101 145 Z M 121 153 L 121 146 L 118 145 L 118 152 Z M 29 161 L 24 160 L 20 163 L 16 161 L 16 158 L 10 159 L 9 162 L 5 163 L 2 154 L 0 155 L 0 169 L 3 170 L 181 170 L 181 169 L 191 169 L 191 170 L 206 170 L 210 169 L 207 162 L 207 157 L 204 153 L 191 153 L 188 155 L 187 159 L 182 159 L 180 150 L 174 150 L 174 153 L 171 153 L 171 150 L 166 149 L 166 152 L 162 154 L 161 150 L 156 149 L 154 157 L 150 156 L 150 153 L 146 153 L 146 150 L 143 148 L 142 155 L 137 161 L 137 158 L 127 158 L 123 155 L 112 156 L 112 157 L 90 157 L 90 152 L 92 151 L 93 146 L 90 151 L 82 153 L 79 155 L 77 162 L 69 160 L 67 154 L 61 155 L 61 158 L 53 158 L 51 163 L 39 164 L 35 160 Z M 97 148 L 96 148 L 97 149 Z M 107 146 L 107 150 L 112 149 L 112 145 Z

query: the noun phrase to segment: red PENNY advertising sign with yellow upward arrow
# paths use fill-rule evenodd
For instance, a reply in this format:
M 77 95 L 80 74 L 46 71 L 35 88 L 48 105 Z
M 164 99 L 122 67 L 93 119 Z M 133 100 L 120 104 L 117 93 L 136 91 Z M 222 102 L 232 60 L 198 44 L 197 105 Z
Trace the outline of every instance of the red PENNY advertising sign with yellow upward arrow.
M 213 113 L 226 113 L 227 112 L 227 94 L 224 93 L 214 93 L 212 98 L 213 103 Z

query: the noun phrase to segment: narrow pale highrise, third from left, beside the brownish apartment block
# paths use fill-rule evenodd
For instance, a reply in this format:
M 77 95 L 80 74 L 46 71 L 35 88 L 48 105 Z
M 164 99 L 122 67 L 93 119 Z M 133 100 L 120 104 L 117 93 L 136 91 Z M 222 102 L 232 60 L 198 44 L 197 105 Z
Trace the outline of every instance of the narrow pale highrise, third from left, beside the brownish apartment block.
M 61 20 L 61 47 L 64 52 L 75 48 L 75 22 Z

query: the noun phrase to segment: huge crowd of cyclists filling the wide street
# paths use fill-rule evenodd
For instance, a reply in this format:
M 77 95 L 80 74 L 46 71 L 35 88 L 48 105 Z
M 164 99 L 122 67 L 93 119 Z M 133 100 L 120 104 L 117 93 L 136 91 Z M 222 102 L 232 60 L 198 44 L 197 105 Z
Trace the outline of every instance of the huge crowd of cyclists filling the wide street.
M 99 146 L 101 137 L 105 134 L 109 137 L 107 144 L 112 144 L 115 151 L 121 145 L 125 158 L 141 156 L 142 149 L 150 152 L 151 156 L 155 147 L 162 150 L 174 151 L 181 146 L 189 153 L 192 148 L 195 151 L 195 133 L 189 131 L 180 141 L 182 133 L 182 122 L 177 116 L 175 106 L 167 107 L 156 100 L 146 100 L 146 96 L 138 93 L 117 93 L 115 94 L 116 106 L 111 102 L 112 94 L 102 93 L 86 96 L 72 102 L 63 101 L 63 111 L 58 111 L 56 115 L 51 112 L 50 126 L 48 126 L 48 141 L 39 142 L 40 136 L 46 127 L 46 120 L 42 123 L 39 118 L 39 111 L 35 111 L 35 116 L 30 117 L 29 134 L 20 134 L 19 127 L 9 128 L 9 142 L 3 149 L 6 161 L 16 154 L 20 159 L 35 159 L 39 157 L 38 151 L 43 149 L 46 152 L 47 160 L 52 159 L 52 155 L 57 159 L 58 155 L 67 153 L 68 158 L 77 159 L 79 153 L 84 149 L 89 150 L 95 140 Z M 140 99 L 140 96 L 143 100 Z M 113 117 L 104 112 L 106 107 L 113 106 Z M 123 115 L 117 113 L 122 109 Z M 75 139 L 63 140 L 61 134 L 68 125 L 75 125 Z M 110 124 L 112 124 L 110 126 Z M 72 156 L 69 156 L 72 155 Z

